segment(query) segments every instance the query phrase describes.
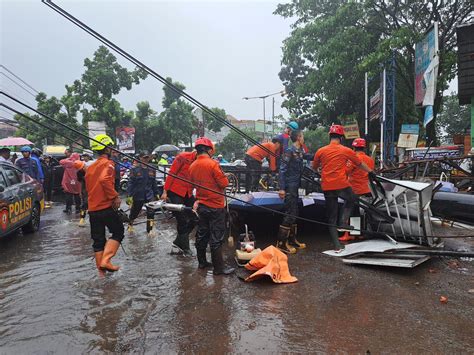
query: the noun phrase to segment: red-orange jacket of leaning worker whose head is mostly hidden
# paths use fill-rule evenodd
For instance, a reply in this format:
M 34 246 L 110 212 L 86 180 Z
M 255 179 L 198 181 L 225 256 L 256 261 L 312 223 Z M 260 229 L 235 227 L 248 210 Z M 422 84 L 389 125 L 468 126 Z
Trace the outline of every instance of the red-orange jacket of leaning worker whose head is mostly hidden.
M 169 173 L 189 180 L 189 167 L 196 159 L 196 152 L 184 152 L 178 154 L 171 164 Z M 193 185 L 183 180 L 175 179 L 171 175 L 166 177 L 164 189 L 185 197 L 193 195 Z

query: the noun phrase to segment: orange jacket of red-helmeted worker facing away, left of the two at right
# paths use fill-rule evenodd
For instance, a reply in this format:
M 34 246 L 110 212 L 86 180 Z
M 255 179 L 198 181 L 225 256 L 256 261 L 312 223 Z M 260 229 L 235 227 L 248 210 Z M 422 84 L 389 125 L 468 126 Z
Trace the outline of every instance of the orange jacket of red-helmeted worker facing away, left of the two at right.
M 348 161 L 354 163 L 355 166 L 362 163 L 352 149 L 338 142 L 330 142 L 318 149 L 314 155 L 313 168 L 316 170 L 321 166 L 323 191 L 341 190 L 351 186 L 346 173 Z

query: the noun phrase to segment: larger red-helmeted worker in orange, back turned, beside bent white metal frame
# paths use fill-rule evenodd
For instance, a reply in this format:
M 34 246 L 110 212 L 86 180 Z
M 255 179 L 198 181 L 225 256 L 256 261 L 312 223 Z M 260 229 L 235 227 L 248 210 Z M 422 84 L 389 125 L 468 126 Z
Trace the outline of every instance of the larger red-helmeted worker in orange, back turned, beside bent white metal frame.
M 313 169 L 321 168 L 321 187 L 326 200 L 328 223 L 333 225 L 329 226 L 329 234 L 331 235 L 335 250 L 338 252 L 344 250 L 344 247 L 339 242 L 338 228 L 335 225 L 341 227 L 339 231 L 352 229 L 349 225 L 349 217 L 355 202 L 355 195 L 347 178 L 347 164 L 350 161 L 355 168 L 373 174 L 372 169 L 362 162 L 353 150 L 341 144 L 343 137 L 344 127 L 332 125 L 329 128 L 329 144 L 320 148 L 313 160 Z M 339 197 L 344 200 L 340 220 L 338 220 Z

